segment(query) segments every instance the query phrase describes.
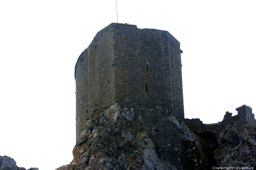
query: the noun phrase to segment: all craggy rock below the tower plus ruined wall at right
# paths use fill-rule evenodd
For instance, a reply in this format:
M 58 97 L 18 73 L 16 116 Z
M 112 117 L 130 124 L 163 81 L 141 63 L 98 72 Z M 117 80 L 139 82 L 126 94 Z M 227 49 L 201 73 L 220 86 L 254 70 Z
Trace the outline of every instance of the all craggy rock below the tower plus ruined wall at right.
M 95 110 L 74 147 L 74 160 L 57 170 L 256 169 L 256 120 L 248 106 L 237 111 L 233 117 L 226 112 L 223 121 L 215 124 L 203 124 L 200 119 L 185 119 L 184 123 L 170 117 L 182 141 L 184 163 L 177 166 L 159 158 L 149 137 L 157 137 L 158 130 L 152 127 L 149 135 L 142 116 L 116 103 L 106 110 Z

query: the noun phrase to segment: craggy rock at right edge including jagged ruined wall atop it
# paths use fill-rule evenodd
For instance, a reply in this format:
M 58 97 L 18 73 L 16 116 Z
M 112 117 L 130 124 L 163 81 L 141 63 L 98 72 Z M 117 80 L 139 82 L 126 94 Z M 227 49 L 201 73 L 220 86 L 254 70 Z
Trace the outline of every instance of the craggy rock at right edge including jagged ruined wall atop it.
M 218 134 L 219 147 L 214 151 L 214 158 L 220 166 L 254 167 L 256 169 L 256 120 L 252 108 L 241 106 L 238 114 L 231 117 L 229 123 Z

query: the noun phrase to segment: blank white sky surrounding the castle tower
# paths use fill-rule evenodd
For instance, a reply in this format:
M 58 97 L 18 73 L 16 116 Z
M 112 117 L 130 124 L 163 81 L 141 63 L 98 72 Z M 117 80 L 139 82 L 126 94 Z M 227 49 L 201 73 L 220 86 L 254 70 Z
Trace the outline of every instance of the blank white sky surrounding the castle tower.
M 255 0 L 118 0 L 119 23 L 181 43 L 185 118 L 217 123 L 256 109 Z M 0 0 L 0 155 L 54 170 L 75 146 L 74 68 L 116 19 L 113 0 Z

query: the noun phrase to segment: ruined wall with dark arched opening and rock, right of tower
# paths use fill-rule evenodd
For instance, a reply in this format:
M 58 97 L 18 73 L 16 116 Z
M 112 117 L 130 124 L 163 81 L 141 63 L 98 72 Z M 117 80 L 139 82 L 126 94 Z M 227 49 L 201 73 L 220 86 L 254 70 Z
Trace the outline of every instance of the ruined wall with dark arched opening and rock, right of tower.
M 226 112 L 222 122 L 203 124 L 200 119 L 185 119 L 206 150 L 212 165 L 256 169 L 256 120 L 252 108 L 236 108 L 238 114 Z

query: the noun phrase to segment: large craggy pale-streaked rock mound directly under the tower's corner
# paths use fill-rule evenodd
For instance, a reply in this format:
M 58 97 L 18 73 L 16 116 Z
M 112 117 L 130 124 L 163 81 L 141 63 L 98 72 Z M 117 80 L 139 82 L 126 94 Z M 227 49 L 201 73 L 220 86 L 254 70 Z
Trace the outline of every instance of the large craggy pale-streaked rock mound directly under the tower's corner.
M 159 159 L 145 131 L 142 116 L 133 108 L 113 104 L 95 111 L 87 121 L 73 150 L 78 169 L 176 169 Z

